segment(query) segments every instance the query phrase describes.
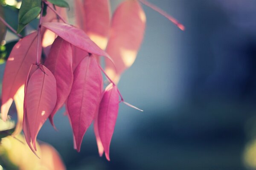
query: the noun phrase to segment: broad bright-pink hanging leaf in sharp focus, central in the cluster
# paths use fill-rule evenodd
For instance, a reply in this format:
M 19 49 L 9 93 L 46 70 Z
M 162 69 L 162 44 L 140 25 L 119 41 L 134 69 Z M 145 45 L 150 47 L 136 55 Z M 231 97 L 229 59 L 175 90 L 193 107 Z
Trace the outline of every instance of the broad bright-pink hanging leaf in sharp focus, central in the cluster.
M 92 123 L 101 94 L 102 75 L 94 57 L 85 57 L 74 72 L 72 90 L 67 100 L 77 150 Z

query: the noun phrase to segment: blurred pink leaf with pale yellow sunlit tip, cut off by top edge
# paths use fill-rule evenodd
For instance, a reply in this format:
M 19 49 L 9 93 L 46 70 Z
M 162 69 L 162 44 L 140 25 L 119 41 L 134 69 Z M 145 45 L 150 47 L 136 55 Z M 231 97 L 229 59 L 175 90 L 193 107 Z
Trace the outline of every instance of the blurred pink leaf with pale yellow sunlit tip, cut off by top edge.
M 84 16 L 76 16 L 83 20 L 83 30 L 100 48 L 105 50 L 110 31 L 109 0 L 85 0 Z

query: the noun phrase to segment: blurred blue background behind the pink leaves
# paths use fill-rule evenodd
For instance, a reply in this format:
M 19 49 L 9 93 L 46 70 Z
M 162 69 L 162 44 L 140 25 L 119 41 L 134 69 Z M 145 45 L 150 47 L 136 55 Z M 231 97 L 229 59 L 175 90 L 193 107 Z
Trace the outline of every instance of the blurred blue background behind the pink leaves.
M 255 169 L 256 1 L 148 1 L 186 30 L 143 6 L 145 38 L 119 89 L 144 112 L 120 104 L 111 161 L 99 157 L 92 127 L 80 153 L 73 149 L 64 109 L 55 116 L 58 132 L 47 121 L 38 139 L 52 144 L 70 170 Z M 121 2 L 111 0 L 112 11 Z

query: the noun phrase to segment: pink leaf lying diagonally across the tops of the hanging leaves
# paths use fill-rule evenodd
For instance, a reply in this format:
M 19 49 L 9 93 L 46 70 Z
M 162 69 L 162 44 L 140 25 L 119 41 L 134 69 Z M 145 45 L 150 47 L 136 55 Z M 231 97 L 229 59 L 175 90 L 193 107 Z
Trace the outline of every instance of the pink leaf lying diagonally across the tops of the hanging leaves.
M 42 23 L 42 26 L 51 30 L 67 42 L 75 45 L 88 53 L 105 56 L 110 59 L 108 54 L 99 48 L 90 38 L 79 28 L 75 28 L 65 23 Z

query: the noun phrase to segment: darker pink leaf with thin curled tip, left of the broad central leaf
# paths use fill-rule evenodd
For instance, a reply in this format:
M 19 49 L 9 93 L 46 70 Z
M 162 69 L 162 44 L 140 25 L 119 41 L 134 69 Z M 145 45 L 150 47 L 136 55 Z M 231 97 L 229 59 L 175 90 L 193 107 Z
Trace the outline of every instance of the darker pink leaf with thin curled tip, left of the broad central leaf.
M 57 83 L 57 103 L 49 116 L 49 120 L 54 126 L 53 116 L 67 100 L 73 84 L 71 44 L 61 37 L 57 37 L 44 65 L 52 72 Z

